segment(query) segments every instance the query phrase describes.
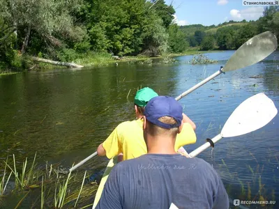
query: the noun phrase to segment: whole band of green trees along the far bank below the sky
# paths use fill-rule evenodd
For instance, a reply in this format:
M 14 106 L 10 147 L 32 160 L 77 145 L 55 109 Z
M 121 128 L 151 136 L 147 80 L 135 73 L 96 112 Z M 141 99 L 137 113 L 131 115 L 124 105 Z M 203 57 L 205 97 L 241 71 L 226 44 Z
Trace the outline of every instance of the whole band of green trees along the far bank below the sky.
M 26 68 L 24 56 L 76 61 L 96 53 L 158 56 L 236 49 L 263 31 L 278 36 L 278 7 L 256 22 L 178 26 L 164 0 L 2 0 L 0 70 Z

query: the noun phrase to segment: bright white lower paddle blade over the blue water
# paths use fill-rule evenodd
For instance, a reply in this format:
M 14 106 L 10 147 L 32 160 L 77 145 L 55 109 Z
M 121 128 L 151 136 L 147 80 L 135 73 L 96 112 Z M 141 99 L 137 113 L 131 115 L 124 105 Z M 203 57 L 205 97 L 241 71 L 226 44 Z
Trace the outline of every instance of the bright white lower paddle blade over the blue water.
M 264 93 L 253 95 L 236 107 L 227 119 L 221 136 L 236 137 L 258 130 L 269 123 L 277 112 L 273 101 Z

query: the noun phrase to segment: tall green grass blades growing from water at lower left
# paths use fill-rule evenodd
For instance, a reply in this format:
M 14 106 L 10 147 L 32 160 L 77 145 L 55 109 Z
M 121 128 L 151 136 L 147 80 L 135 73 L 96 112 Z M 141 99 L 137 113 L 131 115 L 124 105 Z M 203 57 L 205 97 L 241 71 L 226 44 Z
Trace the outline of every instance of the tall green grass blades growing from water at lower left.
M 36 156 L 33 158 L 33 162 L 29 164 L 26 158 L 22 163 L 22 169 L 20 168 L 22 172 L 19 172 L 14 155 L 13 166 L 10 166 L 8 160 L 6 160 L 5 175 L 3 175 L 3 180 L 0 180 L 1 185 L 8 182 L 15 184 L 13 189 L 6 191 L 5 194 L 12 199 L 14 199 L 13 196 L 20 198 L 18 200 L 15 198 L 17 200 L 15 208 L 20 208 L 22 204 L 26 206 L 29 202 L 32 203 L 30 208 L 74 208 L 75 206 L 81 208 L 93 203 L 93 196 L 96 194 L 98 186 L 89 183 L 84 185 L 85 179 L 89 178 L 86 173 L 77 171 L 64 176 L 58 172 L 59 166 L 57 164 L 46 164 L 45 169 L 42 169 L 41 166 L 39 169 L 35 160 Z M 8 169 L 10 169 L 10 173 L 13 173 L 13 179 L 7 178 Z M 0 191 L 3 191 L 3 188 L 1 188 Z M 39 190 L 40 192 L 38 192 Z M 40 193 L 39 196 L 38 193 Z M 3 193 L 1 193 L 0 201 L 5 201 L 5 199 Z

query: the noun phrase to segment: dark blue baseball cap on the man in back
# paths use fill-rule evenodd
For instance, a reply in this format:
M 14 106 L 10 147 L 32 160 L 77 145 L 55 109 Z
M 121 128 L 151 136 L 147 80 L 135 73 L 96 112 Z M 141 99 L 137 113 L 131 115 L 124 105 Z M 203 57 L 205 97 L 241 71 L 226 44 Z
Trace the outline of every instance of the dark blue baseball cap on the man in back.
M 152 98 L 144 109 L 144 116 L 147 121 L 165 129 L 179 127 L 183 119 L 182 113 L 181 104 L 169 96 L 157 96 Z M 158 119 L 163 116 L 174 118 L 176 123 L 167 124 L 159 121 Z

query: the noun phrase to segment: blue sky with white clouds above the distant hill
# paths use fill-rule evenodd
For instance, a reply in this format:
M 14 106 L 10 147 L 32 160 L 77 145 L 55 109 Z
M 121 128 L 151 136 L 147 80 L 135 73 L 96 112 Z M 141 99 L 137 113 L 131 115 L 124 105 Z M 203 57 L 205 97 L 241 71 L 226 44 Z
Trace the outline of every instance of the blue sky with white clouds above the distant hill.
M 174 18 L 179 25 L 209 26 L 229 20 L 258 20 L 264 11 L 264 6 L 243 6 L 243 0 L 165 0 L 165 3 L 172 3 L 176 10 Z

